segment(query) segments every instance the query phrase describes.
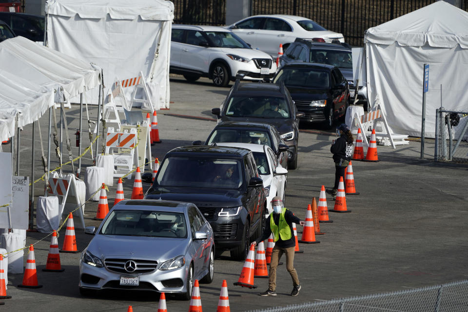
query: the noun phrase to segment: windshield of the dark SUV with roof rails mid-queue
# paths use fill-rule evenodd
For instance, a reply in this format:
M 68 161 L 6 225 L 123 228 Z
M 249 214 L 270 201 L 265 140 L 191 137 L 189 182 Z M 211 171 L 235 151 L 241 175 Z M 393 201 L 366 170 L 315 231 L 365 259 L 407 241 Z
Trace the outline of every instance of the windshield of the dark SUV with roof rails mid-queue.
M 234 96 L 230 99 L 226 116 L 254 118 L 289 118 L 286 98 Z

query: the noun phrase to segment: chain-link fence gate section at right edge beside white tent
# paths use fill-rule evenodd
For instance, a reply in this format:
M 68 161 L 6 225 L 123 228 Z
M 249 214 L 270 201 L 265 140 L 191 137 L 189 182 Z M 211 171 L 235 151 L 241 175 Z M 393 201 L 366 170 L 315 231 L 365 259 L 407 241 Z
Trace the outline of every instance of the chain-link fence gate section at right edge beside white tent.
M 434 159 L 468 163 L 468 112 L 442 107 L 435 115 Z

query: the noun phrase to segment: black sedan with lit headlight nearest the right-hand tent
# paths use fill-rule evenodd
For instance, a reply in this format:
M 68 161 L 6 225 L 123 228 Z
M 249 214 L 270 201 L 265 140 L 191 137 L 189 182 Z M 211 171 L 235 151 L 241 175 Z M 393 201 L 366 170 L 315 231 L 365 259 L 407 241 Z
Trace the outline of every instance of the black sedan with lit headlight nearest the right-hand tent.
M 350 104 L 348 81 L 338 67 L 295 62 L 283 66 L 273 78 L 284 83 L 304 121 L 321 121 L 331 128 L 335 119 L 346 115 Z

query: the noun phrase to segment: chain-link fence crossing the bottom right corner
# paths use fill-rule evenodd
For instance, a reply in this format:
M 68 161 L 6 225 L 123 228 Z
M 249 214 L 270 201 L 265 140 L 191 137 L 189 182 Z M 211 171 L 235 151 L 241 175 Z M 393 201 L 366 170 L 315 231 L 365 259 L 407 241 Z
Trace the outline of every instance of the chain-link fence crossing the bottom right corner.
M 468 311 L 468 280 L 418 289 L 277 307 L 251 312 Z

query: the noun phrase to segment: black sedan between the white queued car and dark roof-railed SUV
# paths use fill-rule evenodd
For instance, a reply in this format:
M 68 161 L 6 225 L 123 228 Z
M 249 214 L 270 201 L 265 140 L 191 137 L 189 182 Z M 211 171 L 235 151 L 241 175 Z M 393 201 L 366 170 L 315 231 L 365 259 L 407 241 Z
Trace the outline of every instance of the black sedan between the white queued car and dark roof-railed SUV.
M 275 126 L 259 122 L 220 122 L 206 139 L 205 145 L 214 143 L 257 143 L 268 145 L 276 155 L 276 159 L 285 169 L 288 169 L 288 146 L 284 144 Z M 193 145 L 202 145 L 202 141 L 194 141 Z

